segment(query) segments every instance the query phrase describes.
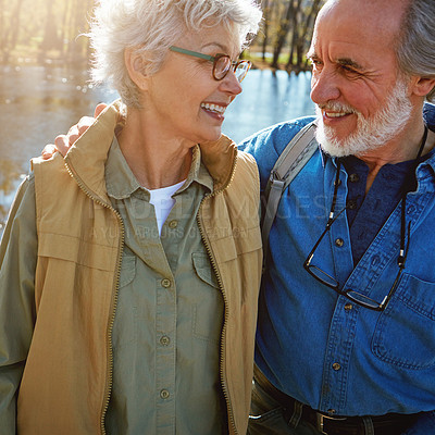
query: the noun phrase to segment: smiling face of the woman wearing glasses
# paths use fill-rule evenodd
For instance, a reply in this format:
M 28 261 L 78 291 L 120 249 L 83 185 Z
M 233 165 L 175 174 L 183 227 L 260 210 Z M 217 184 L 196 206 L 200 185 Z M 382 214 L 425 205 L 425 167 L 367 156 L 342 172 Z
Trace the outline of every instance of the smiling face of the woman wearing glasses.
M 221 26 L 187 34 L 173 45 L 213 57 L 228 54 L 233 61 L 240 52 L 238 36 Z M 145 113 L 153 128 L 192 144 L 219 139 L 225 109 L 241 87 L 233 70 L 220 82 L 212 70 L 210 61 L 169 51 L 159 72 L 147 79 Z

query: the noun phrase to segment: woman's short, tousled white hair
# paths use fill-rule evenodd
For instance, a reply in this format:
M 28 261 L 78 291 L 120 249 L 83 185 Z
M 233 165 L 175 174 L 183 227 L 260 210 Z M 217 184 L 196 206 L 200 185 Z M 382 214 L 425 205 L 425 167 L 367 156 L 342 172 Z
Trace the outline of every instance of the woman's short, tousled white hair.
M 108 83 L 127 107 L 140 107 L 124 63 L 126 48 L 142 54 L 144 74 L 152 75 L 186 32 L 223 25 L 238 34 L 244 48 L 260 20 L 254 0 L 99 0 L 88 34 L 95 50 L 92 80 Z

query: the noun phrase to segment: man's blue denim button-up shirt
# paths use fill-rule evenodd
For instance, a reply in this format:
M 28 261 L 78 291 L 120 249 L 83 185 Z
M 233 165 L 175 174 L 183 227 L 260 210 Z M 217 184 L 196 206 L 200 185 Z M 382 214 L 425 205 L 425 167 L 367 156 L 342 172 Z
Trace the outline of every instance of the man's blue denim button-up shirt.
M 435 129 L 435 107 L 425 105 L 425 120 Z M 262 189 L 282 150 L 311 121 L 274 125 L 240 145 L 259 164 Z M 335 159 L 315 152 L 279 202 L 262 283 L 256 362 L 277 388 L 320 411 L 427 411 L 412 434 L 435 433 L 435 156 L 418 166 L 417 190 L 407 196 L 409 253 L 384 312 L 351 303 L 302 266 L 325 228 L 335 174 Z M 348 195 L 343 166 L 339 176 L 336 210 L 345 208 Z M 320 244 L 313 263 L 341 288 L 382 301 L 398 273 L 400 206 L 356 266 L 346 213 Z

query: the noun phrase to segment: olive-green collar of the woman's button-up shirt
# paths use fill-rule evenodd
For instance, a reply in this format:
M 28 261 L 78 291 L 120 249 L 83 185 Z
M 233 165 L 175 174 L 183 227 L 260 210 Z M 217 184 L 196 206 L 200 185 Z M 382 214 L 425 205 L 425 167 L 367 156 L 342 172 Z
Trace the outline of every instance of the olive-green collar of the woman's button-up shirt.
M 201 163 L 201 151 L 197 145 L 192 148 L 192 161 L 186 183 L 178 189 L 176 195 L 186 190 L 194 182 L 201 184 L 209 191 L 213 190 L 213 179 Z M 125 199 L 132 196 L 137 189 L 144 189 L 128 166 L 116 136 L 113 136 L 105 162 L 105 186 L 109 197 L 114 199 Z

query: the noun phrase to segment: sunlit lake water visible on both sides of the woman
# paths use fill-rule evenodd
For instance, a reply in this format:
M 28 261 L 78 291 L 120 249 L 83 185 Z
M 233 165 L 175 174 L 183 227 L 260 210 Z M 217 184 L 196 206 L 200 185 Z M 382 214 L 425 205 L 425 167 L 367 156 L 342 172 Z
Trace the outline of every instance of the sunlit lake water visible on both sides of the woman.
M 240 141 L 281 121 L 314 113 L 310 73 L 250 71 L 225 113 L 223 133 Z M 42 66 L 0 67 L 0 235 L 32 157 L 116 92 L 94 88 L 86 72 Z

